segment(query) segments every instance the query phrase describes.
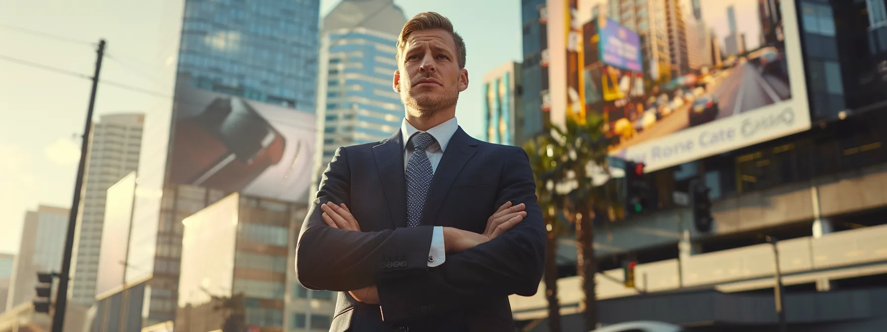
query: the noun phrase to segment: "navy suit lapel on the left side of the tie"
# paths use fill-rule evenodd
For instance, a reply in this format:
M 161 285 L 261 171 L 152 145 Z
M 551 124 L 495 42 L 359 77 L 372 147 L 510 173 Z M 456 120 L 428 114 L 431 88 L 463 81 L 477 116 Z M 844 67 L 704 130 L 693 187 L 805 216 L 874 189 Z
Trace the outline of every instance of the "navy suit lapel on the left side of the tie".
M 381 144 L 373 146 L 376 169 L 388 201 L 392 228 L 406 227 L 406 181 L 404 180 L 404 141 L 400 130 Z

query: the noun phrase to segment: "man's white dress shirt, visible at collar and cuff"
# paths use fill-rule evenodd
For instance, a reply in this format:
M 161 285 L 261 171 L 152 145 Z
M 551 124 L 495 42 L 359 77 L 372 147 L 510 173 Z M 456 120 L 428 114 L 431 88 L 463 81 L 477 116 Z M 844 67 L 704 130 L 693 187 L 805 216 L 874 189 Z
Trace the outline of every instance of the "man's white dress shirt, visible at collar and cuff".
M 428 153 L 428 161 L 431 162 L 432 174 L 436 173 L 437 164 L 440 164 L 441 158 L 443 158 L 443 151 L 446 150 L 447 144 L 450 143 L 452 135 L 456 134 L 456 130 L 459 130 L 459 123 L 456 121 L 456 118 L 453 117 L 452 119 L 426 131 L 426 133 L 435 137 L 436 141 L 429 145 L 428 149 L 425 150 L 425 152 Z M 410 157 L 412 157 L 412 145 L 408 143 L 410 142 L 412 135 L 419 132 L 419 129 L 412 127 L 406 119 L 404 119 L 400 126 L 400 133 L 404 138 L 404 171 L 406 170 L 406 166 L 410 163 Z M 433 235 L 431 235 L 431 250 L 428 251 L 428 267 L 439 266 L 443 264 L 443 261 L 445 260 L 446 250 L 443 246 L 443 228 L 436 226 Z

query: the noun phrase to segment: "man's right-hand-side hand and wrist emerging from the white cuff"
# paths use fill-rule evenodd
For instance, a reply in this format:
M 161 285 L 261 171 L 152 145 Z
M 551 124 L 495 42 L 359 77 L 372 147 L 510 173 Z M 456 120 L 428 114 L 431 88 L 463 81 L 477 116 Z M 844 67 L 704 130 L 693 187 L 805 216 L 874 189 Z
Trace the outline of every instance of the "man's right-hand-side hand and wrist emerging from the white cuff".
M 459 228 L 443 228 L 443 248 L 446 252 L 465 251 L 480 243 L 490 241 L 514 227 L 527 215 L 525 205 L 512 206 L 511 202 L 499 207 L 496 213 L 487 220 L 487 228 L 483 234 L 477 234 Z

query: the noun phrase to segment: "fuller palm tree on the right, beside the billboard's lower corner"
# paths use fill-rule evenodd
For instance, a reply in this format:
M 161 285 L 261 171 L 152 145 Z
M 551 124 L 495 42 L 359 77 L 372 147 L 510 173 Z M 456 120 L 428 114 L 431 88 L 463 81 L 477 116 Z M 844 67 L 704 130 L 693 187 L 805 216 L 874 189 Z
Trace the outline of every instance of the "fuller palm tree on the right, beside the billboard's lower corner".
M 595 166 L 604 170 L 605 174 L 608 169 L 608 143 L 601 131 L 603 124 L 603 118 L 593 112 L 588 113 L 585 119 L 568 117 L 563 128 L 552 127 L 550 142 L 553 147 L 549 149 L 555 152 L 552 166 L 560 164 L 556 167 L 556 173 L 560 174 L 560 189 L 569 190 L 566 207 L 569 220 L 576 227 L 577 274 L 585 291 L 585 330 L 596 328 L 598 323 L 594 285 L 594 275 L 598 272 L 593 245 L 594 212 L 609 205 L 606 199 L 608 195 L 604 191 L 606 187 L 595 185 L 592 176 Z

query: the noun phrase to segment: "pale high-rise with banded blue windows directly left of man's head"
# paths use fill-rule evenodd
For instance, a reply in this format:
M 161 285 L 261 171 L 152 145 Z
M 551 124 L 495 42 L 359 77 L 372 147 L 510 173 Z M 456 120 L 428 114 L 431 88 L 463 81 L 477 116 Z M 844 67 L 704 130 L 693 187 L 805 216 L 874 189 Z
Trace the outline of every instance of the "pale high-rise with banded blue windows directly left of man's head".
M 311 189 L 341 146 L 378 142 L 404 119 L 391 89 L 397 35 L 406 24 L 393 0 L 344 0 L 324 18 L 318 73 L 318 149 Z

